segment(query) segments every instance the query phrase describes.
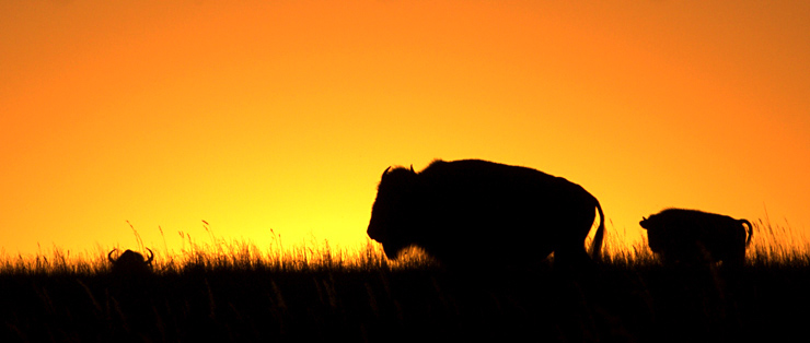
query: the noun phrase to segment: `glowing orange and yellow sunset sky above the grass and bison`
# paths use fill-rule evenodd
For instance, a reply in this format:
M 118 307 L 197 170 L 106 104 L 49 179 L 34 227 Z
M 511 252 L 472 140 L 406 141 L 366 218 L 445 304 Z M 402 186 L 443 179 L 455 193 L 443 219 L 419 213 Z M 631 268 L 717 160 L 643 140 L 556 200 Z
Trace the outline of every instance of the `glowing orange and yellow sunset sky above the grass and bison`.
M 2 1 L 0 246 L 364 241 L 389 165 L 810 229 L 806 1 Z

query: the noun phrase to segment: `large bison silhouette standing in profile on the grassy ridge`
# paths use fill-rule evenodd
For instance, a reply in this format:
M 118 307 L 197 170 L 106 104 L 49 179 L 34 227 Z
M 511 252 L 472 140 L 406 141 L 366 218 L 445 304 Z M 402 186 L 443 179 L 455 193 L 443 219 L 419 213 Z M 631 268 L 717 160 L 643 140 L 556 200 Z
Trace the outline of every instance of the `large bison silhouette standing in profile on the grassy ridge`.
M 395 259 L 417 246 L 445 265 L 555 265 L 600 258 L 604 214 L 597 198 L 564 178 L 479 159 L 435 161 L 424 170 L 389 167 L 378 186 L 368 235 Z

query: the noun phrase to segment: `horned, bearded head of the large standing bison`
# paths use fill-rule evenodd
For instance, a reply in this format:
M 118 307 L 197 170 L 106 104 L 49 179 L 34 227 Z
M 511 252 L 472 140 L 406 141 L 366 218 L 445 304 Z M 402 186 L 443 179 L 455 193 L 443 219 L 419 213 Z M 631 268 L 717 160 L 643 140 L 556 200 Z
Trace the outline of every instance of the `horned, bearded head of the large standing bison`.
M 371 239 L 382 244 L 390 259 L 395 259 L 402 249 L 414 244 L 408 237 L 418 213 L 416 186 L 417 175 L 412 166 L 410 169 L 386 168 L 377 187 L 367 233 Z

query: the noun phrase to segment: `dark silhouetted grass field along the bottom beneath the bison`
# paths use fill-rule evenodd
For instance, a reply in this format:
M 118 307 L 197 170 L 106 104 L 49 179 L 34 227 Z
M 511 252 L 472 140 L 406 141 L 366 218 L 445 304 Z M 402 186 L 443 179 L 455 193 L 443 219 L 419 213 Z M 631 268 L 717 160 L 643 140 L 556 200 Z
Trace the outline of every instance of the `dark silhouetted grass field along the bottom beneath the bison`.
M 586 272 L 236 250 L 146 277 L 112 275 L 102 258 L 7 261 L 0 342 L 796 341 L 810 320 L 810 256 L 784 247 L 757 245 L 736 271 L 613 253 Z

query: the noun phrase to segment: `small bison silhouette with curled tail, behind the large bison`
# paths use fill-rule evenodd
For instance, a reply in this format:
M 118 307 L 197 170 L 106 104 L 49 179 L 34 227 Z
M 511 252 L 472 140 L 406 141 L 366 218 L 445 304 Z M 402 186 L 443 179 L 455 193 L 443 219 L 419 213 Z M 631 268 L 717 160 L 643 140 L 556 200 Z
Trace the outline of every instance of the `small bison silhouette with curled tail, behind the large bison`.
M 741 267 L 754 234 L 747 220 L 696 210 L 667 209 L 643 217 L 639 224 L 647 229 L 652 252 L 667 264 L 722 261 L 727 267 Z

